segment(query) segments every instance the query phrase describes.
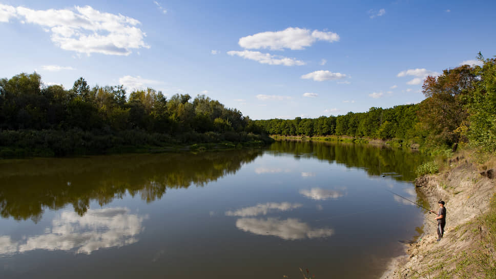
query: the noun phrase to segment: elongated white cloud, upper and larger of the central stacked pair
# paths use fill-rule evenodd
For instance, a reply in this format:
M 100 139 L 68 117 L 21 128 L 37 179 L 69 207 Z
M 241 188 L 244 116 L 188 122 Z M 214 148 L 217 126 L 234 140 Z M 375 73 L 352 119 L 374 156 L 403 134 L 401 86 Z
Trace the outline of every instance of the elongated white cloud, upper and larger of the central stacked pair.
M 312 46 L 317 40 L 337 42 L 339 35 L 333 32 L 289 27 L 282 31 L 267 31 L 242 37 L 238 44 L 245 49 L 300 50 Z

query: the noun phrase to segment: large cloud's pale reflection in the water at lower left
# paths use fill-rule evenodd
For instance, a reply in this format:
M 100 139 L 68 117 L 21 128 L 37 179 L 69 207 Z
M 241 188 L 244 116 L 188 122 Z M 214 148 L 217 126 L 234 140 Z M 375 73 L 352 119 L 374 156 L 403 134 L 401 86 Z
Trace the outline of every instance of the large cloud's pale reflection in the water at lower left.
M 13 241 L 0 236 L 0 254 L 22 253 L 36 249 L 73 250 L 90 254 L 101 248 L 121 247 L 138 241 L 147 216 L 129 214 L 128 208 L 88 210 L 85 216 L 63 211 L 52 220 L 51 228 L 41 235 Z

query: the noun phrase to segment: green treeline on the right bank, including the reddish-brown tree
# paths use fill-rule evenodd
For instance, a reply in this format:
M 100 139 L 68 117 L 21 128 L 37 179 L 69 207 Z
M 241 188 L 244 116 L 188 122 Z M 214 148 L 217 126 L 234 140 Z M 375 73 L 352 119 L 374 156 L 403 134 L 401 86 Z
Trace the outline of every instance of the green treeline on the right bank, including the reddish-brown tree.
M 482 66 L 446 69 L 423 84 L 424 101 L 394 108 L 319 118 L 270 119 L 256 124 L 269 134 L 398 138 L 410 143 L 458 143 L 496 152 L 496 59 Z

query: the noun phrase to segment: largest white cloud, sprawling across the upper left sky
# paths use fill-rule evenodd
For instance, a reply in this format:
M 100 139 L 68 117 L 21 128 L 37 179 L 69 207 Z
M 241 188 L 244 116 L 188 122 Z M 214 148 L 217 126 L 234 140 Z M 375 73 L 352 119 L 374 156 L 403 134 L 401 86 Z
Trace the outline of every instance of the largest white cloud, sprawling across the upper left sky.
M 143 42 L 146 34 L 134 18 L 100 12 L 90 6 L 62 10 L 32 10 L 25 7 L 0 6 L 0 21 L 16 17 L 22 23 L 50 29 L 52 42 L 64 50 L 77 53 L 129 55 L 133 49 L 150 48 Z

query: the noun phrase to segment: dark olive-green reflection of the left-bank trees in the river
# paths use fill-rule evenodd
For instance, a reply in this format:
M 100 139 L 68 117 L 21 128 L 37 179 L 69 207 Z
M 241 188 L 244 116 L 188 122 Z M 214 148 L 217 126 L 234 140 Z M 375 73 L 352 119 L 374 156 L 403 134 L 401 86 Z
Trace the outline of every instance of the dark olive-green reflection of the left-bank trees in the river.
M 45 208 L 67 204 L 82 216 L 91 201 L 102 206 L 130 194 L 152 202 L 168 188 L 204 186 L 234 174 L 261 154 L 254 149 L 0 160 L 0 214 L 36 223 Z

